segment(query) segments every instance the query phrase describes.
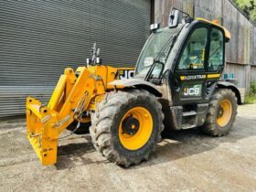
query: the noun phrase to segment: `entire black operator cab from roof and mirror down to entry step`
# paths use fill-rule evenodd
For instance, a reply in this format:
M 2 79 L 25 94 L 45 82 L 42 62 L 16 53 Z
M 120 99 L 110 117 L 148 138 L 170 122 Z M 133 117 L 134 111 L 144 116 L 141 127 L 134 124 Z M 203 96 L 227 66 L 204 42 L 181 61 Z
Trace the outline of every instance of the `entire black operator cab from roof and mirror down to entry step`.
M 176 8 L 168 27 L 152 25 L 152 34 L 137 60 L 135 78 L 165 90 L 161 100 L 175 129 L 205 123 L 208 102 L 225 65 L 229 31 Z M 167 86 L 167 87 L 166 87 Z M 164 89 L 163 89 L 164 88 Z

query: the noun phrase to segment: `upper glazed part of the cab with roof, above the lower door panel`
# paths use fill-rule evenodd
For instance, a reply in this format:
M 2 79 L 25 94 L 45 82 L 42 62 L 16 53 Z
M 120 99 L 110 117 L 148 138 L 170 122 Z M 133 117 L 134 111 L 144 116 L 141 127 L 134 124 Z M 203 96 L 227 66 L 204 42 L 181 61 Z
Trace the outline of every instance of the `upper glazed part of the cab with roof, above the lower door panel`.
M 224 44 L 230 34 L 216 21 L 194 19 L 173 8 L 169 26 L 160 28 L 160 24 L 153 24 L 151 31 L 137 60 L 136 77 L 149 81 L 161 79 L 167 70 L 222 72 Z

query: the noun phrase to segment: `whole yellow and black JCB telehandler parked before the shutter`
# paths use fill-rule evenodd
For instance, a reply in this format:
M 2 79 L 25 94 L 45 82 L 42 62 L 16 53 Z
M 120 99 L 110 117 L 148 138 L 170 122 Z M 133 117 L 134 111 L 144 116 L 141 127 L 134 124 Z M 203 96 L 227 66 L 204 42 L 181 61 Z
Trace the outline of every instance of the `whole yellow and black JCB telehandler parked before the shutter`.
M 74 121 L 91 122 L 97 151 L 124 166 L 148 159 L 164 123 L 229 133 L 240 103 L 236 86 L 219 80 L 229 31 L 175 8 L 168 27 L 151 31 L 133 79 L 118 80 L 120 70 L 101 65 L 93 48 L 88 66 L 65 69 L 47 106 L 27 98 L 27 138 L 43 165 L 57 162 L 59 134 Z

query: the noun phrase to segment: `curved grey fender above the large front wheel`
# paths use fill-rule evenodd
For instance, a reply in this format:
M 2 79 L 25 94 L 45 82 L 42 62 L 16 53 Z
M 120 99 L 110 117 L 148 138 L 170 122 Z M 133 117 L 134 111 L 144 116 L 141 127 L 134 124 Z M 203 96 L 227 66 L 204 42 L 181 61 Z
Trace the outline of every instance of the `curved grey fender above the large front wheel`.
M 159 91 L 156 86 L 148 81 L 145 80 L 140 80 L 140 79 L 123 79 L 123 80 L 113 80 L 112 82 L 109 83 L 109 85 L 120 85 L 124 87 L 135 87 L 138 89 L 144 89 L 146 91 L 151 92 L 154 94 L 156 97 L 161 97 L 162 93 Z

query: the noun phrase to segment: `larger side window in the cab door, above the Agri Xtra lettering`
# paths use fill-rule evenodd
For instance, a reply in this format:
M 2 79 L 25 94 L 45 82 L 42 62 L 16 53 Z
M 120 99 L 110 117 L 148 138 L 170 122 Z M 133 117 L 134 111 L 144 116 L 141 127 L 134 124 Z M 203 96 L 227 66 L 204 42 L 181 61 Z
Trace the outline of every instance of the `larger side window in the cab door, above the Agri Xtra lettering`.
M 207 40 L 208 29 L 205 27 L 197 28 L 188 39 L 177 69 L 205 69 Z

